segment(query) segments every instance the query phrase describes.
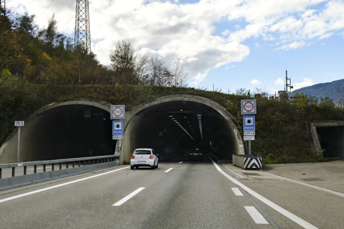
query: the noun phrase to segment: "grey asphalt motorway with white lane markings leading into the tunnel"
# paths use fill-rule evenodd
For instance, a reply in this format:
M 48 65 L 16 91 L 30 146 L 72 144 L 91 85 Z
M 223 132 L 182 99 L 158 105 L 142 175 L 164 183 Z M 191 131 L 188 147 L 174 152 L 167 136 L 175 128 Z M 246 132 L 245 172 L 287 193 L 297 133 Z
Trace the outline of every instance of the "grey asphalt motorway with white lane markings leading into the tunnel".
M 341 229 L 343 212 L 341 196 L 186 155 L 0 191 L 4 229 Z

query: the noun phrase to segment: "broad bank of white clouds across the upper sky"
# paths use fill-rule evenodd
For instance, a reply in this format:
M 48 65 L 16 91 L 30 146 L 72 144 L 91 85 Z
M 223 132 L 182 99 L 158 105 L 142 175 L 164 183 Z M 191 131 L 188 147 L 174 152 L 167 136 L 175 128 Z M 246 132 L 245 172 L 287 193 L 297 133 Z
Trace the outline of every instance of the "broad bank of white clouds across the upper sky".
M 325 6 L 318 9 L 320 2 Z M 40 28 L 55 13 L 58 30 L 74 35 L 75 0 L 11 0 L 8 5 L 36 14 Z M 250 54 L 244 44 L 248 38 L 274 41 L 276 50 L 287 51 L 312 39 L 344 36 L 343 0 L 90 0 L 89 10 L 91 49 L 102 64 L 109 64 L 117 40 L 131 38 L 167 64 L 179 56 L 193 85 L 212 69 L 244 60 Z M 234 26 L 214 35 L 221 22 Z

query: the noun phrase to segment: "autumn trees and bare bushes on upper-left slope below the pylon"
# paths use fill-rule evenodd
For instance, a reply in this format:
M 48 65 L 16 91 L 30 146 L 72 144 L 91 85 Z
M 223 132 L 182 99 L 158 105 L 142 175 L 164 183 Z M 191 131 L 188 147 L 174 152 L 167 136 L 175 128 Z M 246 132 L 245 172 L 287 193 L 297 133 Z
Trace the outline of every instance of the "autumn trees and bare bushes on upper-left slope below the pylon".
M 109 47 L 111 66 L 57 30 L 54 15 L 46 28 L 35 15 L 14 15 L 0 6 L 0 78 L 15 76 L 33 84 L 141 84 L 187 86 L 177 58 L 168 66 L 158 56 L 140 53 L 129 38 Z

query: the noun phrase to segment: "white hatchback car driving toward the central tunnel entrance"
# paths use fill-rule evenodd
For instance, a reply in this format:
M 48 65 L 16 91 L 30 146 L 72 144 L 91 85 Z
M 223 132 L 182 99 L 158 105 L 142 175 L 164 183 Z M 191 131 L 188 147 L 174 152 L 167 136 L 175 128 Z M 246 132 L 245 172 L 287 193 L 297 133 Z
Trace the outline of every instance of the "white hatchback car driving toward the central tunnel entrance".
M 151 167 L 151 169 L 158 168 L 158 156 L 159 154 L 156 154 L 153 149 L 136 149 L 131 155 L 130 169 L 139 166 Z

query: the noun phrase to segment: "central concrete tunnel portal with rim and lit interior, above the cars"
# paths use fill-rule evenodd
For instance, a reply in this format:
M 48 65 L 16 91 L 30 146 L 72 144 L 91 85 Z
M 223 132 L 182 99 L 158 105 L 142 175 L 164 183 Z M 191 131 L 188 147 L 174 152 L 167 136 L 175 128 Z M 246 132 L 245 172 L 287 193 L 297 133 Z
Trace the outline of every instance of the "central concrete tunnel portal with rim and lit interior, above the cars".
M 244 154 L 240 133 L 223 107 L 202 97 L 177 96 L 131 111 L 132 117 L 126 120 L 122 163 L 128 163 L 137 148 L 153 148 L 164 157 L 195 148 L 222 159 Z

